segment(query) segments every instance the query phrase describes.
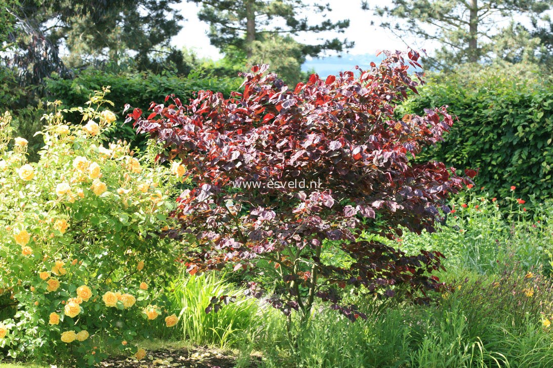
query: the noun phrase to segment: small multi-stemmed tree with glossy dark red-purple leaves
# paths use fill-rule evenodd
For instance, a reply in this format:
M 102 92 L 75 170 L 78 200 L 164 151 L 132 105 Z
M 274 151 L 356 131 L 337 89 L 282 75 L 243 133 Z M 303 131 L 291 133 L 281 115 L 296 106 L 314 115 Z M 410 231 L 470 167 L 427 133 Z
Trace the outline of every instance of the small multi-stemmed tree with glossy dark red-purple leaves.
M 139 132 L 164 143 L 163 160 L 187 168 L 192 188 L 174 216 L 190 243 L 190 273 L 230 265 L 274 275 L 269 302 L 285 314 L 300 310 L 304 321 L 315 297 L 352 321 L 363 316 L 341 305 L 337 289 L 347 285 L 380 298 L 397 285 L 415 298 L 441 288 L 426 274 L 440 267 L 440 253 L 407 256 L 373 238 L 392 238 L 400 225 L 434 230 L 437 208 L 447 212 L 442 201 L 468 183 L 442 163 L 412 163 L 453 121 L 445 107 L 395 120 L 395 104 L 418 83 L 403 54 L 385 55 L 359 78 L 313 74 L 294 90 L 255 66 L 231 99 L 200 91 L 189 105 L 152 104 L 146 119 L 140 109 L 129 114 Z M 410 65 L 418 58 L 409 52 Z M 322 262 L 329 242 L 351 258 L 348 266 Z M 260 296 L 258 286 L 251 294 Z

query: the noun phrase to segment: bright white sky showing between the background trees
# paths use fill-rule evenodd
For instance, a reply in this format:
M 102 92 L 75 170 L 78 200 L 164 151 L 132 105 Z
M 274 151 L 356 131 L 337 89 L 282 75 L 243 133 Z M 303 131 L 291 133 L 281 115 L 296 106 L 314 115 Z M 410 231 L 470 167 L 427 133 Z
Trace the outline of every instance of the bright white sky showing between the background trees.
M 326 33 L 325 37 L 332 39 L 347 38 L 349 41 L 354 41 L 355 46 L 349 50 L 351 55 L 374 55 L 377 50 L 406 50 L 407 46 L 389 31 L 380 28 L 377 25 L 371 25 L 371 21 L 379 23 L 378 17 L 368 10 L 361 9 L 361 0 L 326 0 L 329 3 L 332 12 L 327 14 L 331 20 L 349 19 L 349 28 L 343 34 Z M 174 6 L 174 9 L 182 12 L 187 19 L 184 23 L 184 28 L 172 40 L 173 45 L 182 47 L 186 46 L 192 49 L 200 57 L 210 57 L 215 60 L 221 58 L 222 55 L 216 47 L 210 45 L 207 38 L 208 25 L 201 22 L 197 18 L 199 6 L 194 3 L 182 1 L 182 3 Z M 315 17 L 310 17 L 314 19 Z M 321 20 L 323 18 L 320 18 Z M 300 42 L 316 42 L 316 39 L 323 34 L 307 34 L 299 35 L 296 38 Z M 431 45 L 416 45 L 416 47 L 425 47 L 431 50 Z

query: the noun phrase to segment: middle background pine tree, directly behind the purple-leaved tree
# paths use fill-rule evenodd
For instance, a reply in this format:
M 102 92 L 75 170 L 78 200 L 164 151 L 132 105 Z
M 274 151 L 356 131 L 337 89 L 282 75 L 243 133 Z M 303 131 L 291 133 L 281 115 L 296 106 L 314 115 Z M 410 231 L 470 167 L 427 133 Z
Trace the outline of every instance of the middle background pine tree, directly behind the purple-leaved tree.
M 318 56 L 326 50 L 343 51 L 352 42 L 334 38 L 320 39 L 319 44 L 300 44 L 293 36 L 300 33 L 338 31 L 342 33 L 349 20 L 324 20 L 312 24 L 301 13 L 323 14 L 332 9 L 328 4 L 300 0 L 189 0 L 202 4 L 200 20 L 210 24 L 211 44 L 231 54 L 243 68 L 246 62 L 270 63 L 272 70 L 287 82 L 297 82 L 305 56 Z M 278 48 L 284 47 L 283 51 Z

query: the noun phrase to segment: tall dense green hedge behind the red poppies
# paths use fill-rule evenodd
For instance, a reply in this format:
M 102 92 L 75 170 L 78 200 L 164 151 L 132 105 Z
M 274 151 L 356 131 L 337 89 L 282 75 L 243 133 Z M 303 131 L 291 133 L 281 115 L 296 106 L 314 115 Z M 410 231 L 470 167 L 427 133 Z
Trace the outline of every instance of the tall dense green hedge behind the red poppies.
M 553 83 L 531 66 L 463 68 L 436 74 L 401 113 L 449 105 L 458 117 L 445 142 L 421 159 L 435 158 L 457 169 L 479 168 L 475 178 L 494 195 L 549 198 L 553 194 Z

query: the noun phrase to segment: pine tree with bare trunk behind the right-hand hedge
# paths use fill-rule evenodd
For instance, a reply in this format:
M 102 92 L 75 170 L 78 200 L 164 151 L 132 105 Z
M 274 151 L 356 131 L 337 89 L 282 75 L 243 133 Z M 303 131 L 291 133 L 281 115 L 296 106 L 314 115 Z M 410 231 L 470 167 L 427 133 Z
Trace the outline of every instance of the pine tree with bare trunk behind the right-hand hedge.
M 521 17 L 536 20 L 551 8 L 549 0 L 392 0 L 390 6 L 371 7 L 384 17 L 382 26 L 394 34 L 437 41 L 441 48 L 430 63 L 446 67 L 486 58 L 528 58 L 539 40 L 529 38 Z M 505 24 L 503 27 L 498 26 Z M 514 38 L 513 38 L 514 37 Z M 518 39 L 520 42 L 510 42 Z M 503 49 L 498 50 L 497 45 Z

